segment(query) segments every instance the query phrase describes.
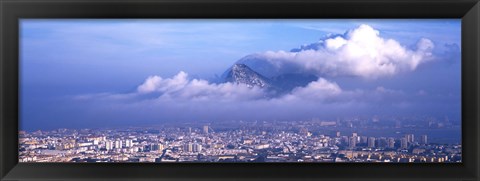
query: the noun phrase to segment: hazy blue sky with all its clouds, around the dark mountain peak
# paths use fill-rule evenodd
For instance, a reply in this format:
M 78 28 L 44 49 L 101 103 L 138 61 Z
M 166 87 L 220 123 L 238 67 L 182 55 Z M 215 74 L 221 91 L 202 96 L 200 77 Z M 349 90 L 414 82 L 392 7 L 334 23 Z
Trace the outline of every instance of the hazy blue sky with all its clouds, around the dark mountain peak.
M 458 120 L 460 23 L 23 19 L 21 129 L 376 114 Z M 247 55 L 319 79 L 276 98 L 211 82 Z

